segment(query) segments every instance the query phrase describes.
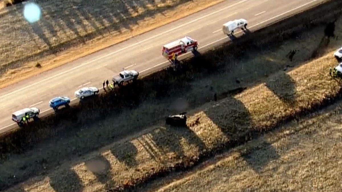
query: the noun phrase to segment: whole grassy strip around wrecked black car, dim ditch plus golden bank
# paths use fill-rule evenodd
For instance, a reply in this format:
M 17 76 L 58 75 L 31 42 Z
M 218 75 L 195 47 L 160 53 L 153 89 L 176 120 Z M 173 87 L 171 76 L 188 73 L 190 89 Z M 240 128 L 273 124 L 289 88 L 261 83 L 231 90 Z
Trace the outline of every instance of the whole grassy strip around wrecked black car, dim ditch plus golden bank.
M 337 21 L 336 36 L 342 33 L 339 23 L 341 19 Z M 242 60 L 227 58 L 229 65 L 220 72 L 195 75 L 190 83 L 170 90 L 176 95 L 151 98 L 117 117 L 81 125 L 71 134 L 13 154 L 0 166 L 4 173 L 0 183 L 10 185 L 31 177 L 6 191 L 139 191 L 139 187 L 129 187 L 171 170 L 192 167 L 222 147 L 243 143 L 287 118 L 315 110 L 340 93 L 341 80 L 328 75 L 329 67 L 336 65 L 332 52 L 293 70 L 289 66 L 305 63 L 317 50 L 338 47 L 341 41 L 324 38 L 324 29 L 324 25 L 317 26 L 289 41 L 250 50 Z M 300 51 L 292 62 L 288 58 L 291 49 Z M 229 90 L 244 86 L 251 88 L 235 96 L 229 94 Z M 213 93 L 218 93 L 221 100 L 211 101 Z M 188 127 L 174 128 L 158 122 L 162 116 L 177 111 L 174 102 L 180 96 L 188 107 L 183 103 L 179 107 L 185 109 L 179 111 L 204 104 L 188 110 Z M 154 126 L 146 129 L 151 119 Z M 127 134 L 130 138 L 121 140 Z

